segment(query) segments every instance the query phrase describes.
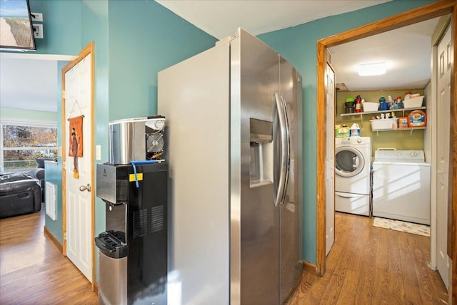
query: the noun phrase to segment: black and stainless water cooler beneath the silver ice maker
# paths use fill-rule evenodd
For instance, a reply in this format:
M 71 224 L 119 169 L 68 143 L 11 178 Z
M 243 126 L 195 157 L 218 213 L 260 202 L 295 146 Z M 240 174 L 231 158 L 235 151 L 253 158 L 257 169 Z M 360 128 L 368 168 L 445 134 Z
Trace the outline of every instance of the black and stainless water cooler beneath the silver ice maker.
M 106 206 L 106 231 L 95 238 L 99 304 L 166 305 L 167 179 L 165 162 L 97 165 Z

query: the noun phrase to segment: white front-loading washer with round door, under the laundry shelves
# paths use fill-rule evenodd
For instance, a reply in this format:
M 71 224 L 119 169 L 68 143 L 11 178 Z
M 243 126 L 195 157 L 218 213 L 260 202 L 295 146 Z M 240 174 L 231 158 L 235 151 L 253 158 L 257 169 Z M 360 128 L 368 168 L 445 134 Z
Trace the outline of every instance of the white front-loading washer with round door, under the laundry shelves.
M 370 178 L 370 138 L 335 138 L 335 210 L 370 216 Z

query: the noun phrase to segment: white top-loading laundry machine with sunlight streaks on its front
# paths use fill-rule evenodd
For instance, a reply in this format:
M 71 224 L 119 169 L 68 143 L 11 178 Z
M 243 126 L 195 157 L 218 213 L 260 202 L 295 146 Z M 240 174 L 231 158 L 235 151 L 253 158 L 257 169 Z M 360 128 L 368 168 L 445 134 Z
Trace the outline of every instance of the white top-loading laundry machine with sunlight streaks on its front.
M 422 150 L 376 150 L 373 216 L 430 224 L 430 164 Z

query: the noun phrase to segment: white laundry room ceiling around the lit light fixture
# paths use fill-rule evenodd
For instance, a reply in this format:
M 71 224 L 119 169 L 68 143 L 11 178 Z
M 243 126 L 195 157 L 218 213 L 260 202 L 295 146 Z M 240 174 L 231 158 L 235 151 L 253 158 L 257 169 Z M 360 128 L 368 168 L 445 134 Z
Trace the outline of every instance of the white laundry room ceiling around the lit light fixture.
M 425 88 L 431 80 L 431 36 L 438 18 L 329 48 L 335 82 L 349 91 Z M 358 76 L 358 65 L 387 63 L 382 76 Z

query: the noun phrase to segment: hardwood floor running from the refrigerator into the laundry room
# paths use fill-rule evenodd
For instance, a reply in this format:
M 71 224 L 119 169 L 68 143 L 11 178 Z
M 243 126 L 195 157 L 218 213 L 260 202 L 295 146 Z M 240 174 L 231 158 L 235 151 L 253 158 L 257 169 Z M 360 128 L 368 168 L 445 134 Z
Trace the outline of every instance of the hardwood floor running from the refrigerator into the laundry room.
M 326 274 L 303 272 L 288 305 L 448 304 L 446 286 L 428 267 L 430 238 L 372 224 L 337 212 Z

